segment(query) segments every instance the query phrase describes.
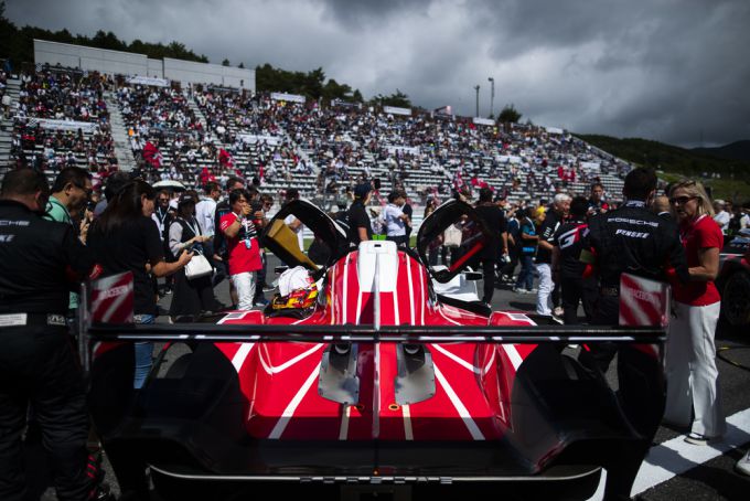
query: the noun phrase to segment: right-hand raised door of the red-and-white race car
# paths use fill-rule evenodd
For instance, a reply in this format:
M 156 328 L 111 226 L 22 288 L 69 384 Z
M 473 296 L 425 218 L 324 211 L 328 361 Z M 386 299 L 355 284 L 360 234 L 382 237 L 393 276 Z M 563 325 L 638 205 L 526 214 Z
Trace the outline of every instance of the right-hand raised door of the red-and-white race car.
M 450 200 L 430 214 L 419 227 L 417 252 L 432 278 L 450 281 L 490 244 L 490 231 L 474 209 L 465 202 Z M 429 253 L 446 245 L 451 250 L 450 266 L 429 266 Z

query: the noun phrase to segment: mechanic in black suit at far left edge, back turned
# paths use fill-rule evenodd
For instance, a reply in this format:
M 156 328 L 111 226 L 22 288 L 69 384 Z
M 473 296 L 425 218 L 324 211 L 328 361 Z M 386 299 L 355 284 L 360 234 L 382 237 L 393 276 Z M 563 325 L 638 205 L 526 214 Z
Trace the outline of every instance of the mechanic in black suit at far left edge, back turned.
M 50 188 L 32 169 L 6 173 L 0 195 L 0 499 L 25 495 L 21 435 L 35 413 L 57 499 L 88 500 L 88 415 L 67 335 L 69 291 L 94 266 L 68 224 L 45 221 Z

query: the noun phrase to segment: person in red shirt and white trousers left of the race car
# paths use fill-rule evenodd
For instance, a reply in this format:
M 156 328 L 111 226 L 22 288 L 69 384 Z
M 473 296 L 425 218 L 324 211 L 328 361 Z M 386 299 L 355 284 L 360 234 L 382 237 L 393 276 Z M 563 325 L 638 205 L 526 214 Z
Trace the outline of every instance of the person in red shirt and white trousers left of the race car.
M 237 289 L 237 309 L 253 308 L 256 271 L 262 267 L 258 243 L 257 214 L 251 214 L 249 195 L 245 190 L 229 193 L 232 212 L 219 220 L 219 230 L 226 237 L 228 248 L 229 279 Z

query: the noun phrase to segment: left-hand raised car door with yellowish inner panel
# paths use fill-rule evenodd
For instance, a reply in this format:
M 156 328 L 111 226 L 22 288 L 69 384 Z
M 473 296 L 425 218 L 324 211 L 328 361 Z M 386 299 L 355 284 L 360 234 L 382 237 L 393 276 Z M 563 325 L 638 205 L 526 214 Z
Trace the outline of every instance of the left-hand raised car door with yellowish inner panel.
M 307 254 L 300 249 L 297 234 L 283 222 L 290 215 L 312 232 L 313 241 Z M 317 205 L 303 199 L 282 206 L 264 230 L 261 238 L 262 245 L 287 266 L 304 266 L 313 274 L 328 268 L 349 249 L 346 233 Z

